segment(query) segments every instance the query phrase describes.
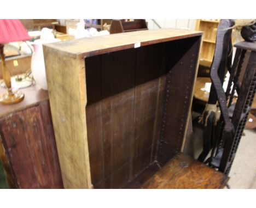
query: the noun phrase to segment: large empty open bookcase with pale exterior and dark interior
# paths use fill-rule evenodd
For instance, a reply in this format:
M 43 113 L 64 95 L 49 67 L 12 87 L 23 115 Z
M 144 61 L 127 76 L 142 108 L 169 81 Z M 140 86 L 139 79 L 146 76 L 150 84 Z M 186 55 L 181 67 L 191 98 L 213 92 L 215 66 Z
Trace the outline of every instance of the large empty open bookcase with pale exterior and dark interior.
M 65 188 L 123 187 L 182 150 L 201 35 L 160 29 L 44 45 Z

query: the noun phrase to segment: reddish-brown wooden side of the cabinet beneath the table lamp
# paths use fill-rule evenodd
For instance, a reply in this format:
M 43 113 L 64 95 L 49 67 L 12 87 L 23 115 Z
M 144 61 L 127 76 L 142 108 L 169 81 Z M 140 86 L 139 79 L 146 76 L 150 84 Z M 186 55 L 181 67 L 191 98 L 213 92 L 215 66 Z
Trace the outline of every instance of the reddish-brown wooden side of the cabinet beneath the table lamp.
M 0 119 L 16 188 L 62 188 L 48 101 Z

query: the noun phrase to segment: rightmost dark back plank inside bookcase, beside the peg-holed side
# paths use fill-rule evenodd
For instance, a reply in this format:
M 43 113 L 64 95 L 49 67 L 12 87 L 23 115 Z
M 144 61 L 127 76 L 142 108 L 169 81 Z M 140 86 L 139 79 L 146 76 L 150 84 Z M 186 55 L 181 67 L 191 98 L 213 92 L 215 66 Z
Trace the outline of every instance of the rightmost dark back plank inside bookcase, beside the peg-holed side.
M 165 44 L 164 44 L 165 45 Z M 166 71 L 167 52 L 163 44 L 138 48 L 135 87 L 135 145 L 133 155 L 133 176 L 140 173 L 153 162 L 153 149 L 159 138 L 162 97 L 164 88 L 160 87 L 162 70 Z M 165 62 L 164 62 L 165 61 Z M 164 69 L 163 69 L 164 68 Z

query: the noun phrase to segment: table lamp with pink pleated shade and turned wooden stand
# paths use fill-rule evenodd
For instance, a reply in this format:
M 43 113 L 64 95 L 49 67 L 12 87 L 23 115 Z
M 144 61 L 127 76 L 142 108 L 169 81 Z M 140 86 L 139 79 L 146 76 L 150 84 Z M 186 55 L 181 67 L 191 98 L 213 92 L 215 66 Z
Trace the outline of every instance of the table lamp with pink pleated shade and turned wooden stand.
M 4 44 L 30 40 L 27 30 L 19 20 L 1 20 L 0 19 L 0 56 L 2 61 L 3 79 L 8 92 L 0 95 L 0 103 L 13 104 L 24 99 L 24 93 L 11 89 L 11 77 L 4 59 Z

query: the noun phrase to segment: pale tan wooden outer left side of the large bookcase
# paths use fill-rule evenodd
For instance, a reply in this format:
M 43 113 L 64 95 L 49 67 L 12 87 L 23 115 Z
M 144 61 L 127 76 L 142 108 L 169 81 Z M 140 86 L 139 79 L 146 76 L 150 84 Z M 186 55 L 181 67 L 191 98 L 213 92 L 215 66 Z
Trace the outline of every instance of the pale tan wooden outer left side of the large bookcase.
M 65 188 L 91 188 L 84 59 L 44 47 L 48 91 Z

